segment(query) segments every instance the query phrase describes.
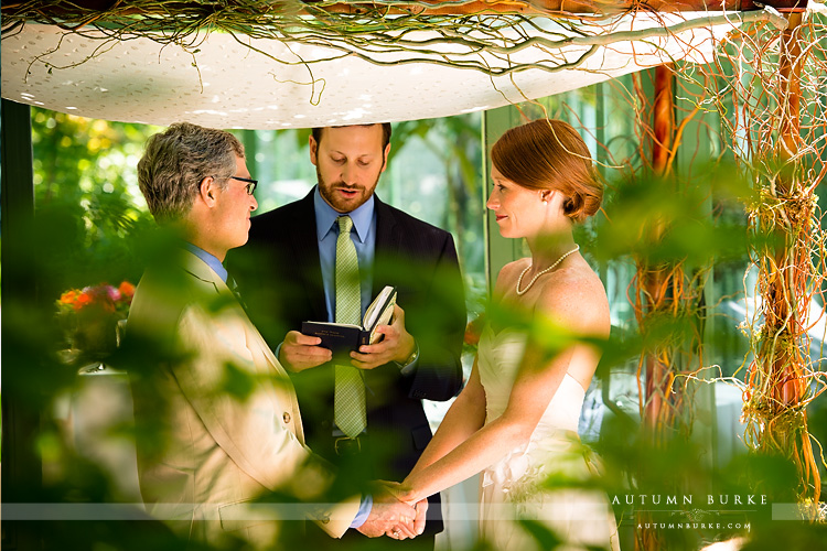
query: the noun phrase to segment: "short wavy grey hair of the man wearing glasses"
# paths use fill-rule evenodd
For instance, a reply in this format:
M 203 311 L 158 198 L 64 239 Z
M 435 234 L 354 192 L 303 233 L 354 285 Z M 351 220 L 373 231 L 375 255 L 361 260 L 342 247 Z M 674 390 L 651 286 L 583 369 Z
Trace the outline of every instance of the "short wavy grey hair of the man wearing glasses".
M 138 162 L 138 185 L 155 222 L 185 216 L 207 176 L 224 188 L 235 174 L 236 156 L 244 158 L 244 145 L 224 130 L 175 122 L 150 137 Z

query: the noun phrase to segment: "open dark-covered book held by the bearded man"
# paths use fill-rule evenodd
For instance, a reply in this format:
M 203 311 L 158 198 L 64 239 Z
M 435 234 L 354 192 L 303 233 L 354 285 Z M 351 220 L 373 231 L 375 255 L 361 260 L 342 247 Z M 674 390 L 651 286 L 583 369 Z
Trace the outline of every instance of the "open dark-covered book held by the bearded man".
M 323 348 L 333 352 L 334 356 L 347 355 L 351 350 L 358 350 L 362 345 L 374 344 L 385 336 L 376 333 L 379 325 L 388 325 L 394 317 L 396 305 L 396 289 L 386 285 L 376 299 L 367 306 L 362 325 L 350 323 L 302 322 L 301 332 L 304 335 L 320 337 Z

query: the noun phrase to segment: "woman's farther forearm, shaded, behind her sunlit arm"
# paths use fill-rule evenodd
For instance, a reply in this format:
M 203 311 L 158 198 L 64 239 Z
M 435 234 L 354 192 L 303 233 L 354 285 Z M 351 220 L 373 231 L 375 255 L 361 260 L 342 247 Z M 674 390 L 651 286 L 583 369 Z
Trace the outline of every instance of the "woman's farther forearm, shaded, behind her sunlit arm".
M 445 413 L 437 434 L 428 443 L 410 475 L 444 457 L 454 447 L 462 444 L 485 423 L 485 391 L 480 382 L 476 359 L 471 369 L 471 377 L 460 396 Z M 410 477 L 408 475 L 408 477 Z

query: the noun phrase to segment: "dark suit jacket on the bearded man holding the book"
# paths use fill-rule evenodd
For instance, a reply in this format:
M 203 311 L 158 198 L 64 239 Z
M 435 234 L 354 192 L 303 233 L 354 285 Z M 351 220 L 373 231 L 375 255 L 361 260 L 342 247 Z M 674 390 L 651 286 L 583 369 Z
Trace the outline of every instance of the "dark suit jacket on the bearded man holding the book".
M 422 399 L 444 401 L 462 386 L 460 354 L 465 327 L 462 279 L 451 235 L 376 197 L 373 295 L 397 288 L 407 331 L 419 346 L 412 374 L 396 364 L 365 371 L 366 450 L 355 464 L 364 479 L 400 480 L 431 440 Z M 313 192 L 253 218 L 248 245 L 232 258 L 250 316 L 275 349 L 303 321 L 326 321 Z M 370 267 L 359 267 L 359 270 Z M 310 447 L 342 465 L 332 450 L 333 366 L 292 374 Z M 427 532 L 442 529 L 439 496 Z

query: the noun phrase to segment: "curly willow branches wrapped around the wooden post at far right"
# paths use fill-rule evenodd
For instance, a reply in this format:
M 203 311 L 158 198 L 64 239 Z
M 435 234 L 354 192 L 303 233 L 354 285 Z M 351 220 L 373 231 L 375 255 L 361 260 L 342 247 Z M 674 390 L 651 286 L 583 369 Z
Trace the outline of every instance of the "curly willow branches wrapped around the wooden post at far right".
M 709 93 L 753 185 L 750 225 L 775 237 L 750 250 L 756 278 L 745 294 L 756 299 L 756 307 L 744 322 L 754 357 L 744 374 L 745 442 L 788 457 L 798 468 L 798 498 L 809 505 L 818 501 L 821 480 L 806 409 L 827 389 L 824 344 L 813 357 L 809 334 L 825 315 L 810 315 L 816 298 L 824 304 L 827 267 L 827 235 L 815 195 L 827 176 L 827 108 L 819 100 L 827 84 L 825 30 L 823 15 L 791 17 L 781 33 L 743 28 L 722 48 L 717 66 L 707 68 L 727 83 L 726 94 Z M 815 507 L 810 511 L 819 515 Z

